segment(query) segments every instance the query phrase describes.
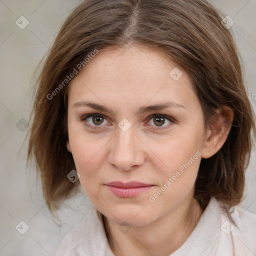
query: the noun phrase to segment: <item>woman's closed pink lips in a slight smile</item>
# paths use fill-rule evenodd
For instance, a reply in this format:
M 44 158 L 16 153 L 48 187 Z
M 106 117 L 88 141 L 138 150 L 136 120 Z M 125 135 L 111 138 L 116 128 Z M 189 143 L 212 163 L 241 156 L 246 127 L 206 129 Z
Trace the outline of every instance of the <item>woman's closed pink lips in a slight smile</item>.
M 109 190 L 119 197 L 134 197 L 150 189 L 152 184 L 145 184 L 137 181 L 123 183 L 121 181 L 112 181 L 105 184 Z

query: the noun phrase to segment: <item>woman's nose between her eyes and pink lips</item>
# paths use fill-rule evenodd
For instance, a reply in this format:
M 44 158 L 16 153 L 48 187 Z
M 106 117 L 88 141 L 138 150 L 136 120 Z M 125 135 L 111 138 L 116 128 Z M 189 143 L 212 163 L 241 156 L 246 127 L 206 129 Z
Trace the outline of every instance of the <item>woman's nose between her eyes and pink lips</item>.
M 144 162 L 142 145 L 132 126 L 126 131 L 118 127 L 108 155 L 110 164 L 121 171 L 138 167 Z

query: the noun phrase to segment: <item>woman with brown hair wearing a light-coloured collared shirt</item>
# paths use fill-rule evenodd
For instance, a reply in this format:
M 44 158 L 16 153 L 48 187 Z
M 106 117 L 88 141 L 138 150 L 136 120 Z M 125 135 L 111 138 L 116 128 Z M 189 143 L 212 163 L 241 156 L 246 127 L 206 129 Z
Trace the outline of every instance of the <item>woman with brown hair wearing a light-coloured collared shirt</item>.
M 256 253 L 256 216 L 234 207 L 255 119 L 219 13 L 85 0 L 67 17 L 38 78 L 28 158 L 52 213 L 79 187 L 93 206 L 57 256 Z

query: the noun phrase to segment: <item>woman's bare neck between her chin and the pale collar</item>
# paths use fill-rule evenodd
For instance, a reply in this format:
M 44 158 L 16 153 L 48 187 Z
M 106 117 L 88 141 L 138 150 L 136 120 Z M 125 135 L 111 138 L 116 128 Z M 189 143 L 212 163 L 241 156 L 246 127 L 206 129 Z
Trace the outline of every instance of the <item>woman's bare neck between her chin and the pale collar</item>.
M 127 233 L 120 232 L 118 224 L 104 215 L 102 217 L 109 246 L 115 256 L 162 256 L 170 255 L 185 242 L 201 214 L 199 203 L 192 197 L 147 225 L 132 226 Z

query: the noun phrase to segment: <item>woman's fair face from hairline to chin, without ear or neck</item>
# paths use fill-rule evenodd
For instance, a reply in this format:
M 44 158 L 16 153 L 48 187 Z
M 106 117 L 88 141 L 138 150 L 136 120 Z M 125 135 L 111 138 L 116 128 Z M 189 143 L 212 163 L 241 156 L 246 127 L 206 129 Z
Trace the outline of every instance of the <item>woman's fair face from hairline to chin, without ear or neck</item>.
M 100 50 L 69 84 L 68 137 L 84 192 L 115 223 L 146 225 L 191 200 L 203 113 L 188 75 L 161 52 Z

